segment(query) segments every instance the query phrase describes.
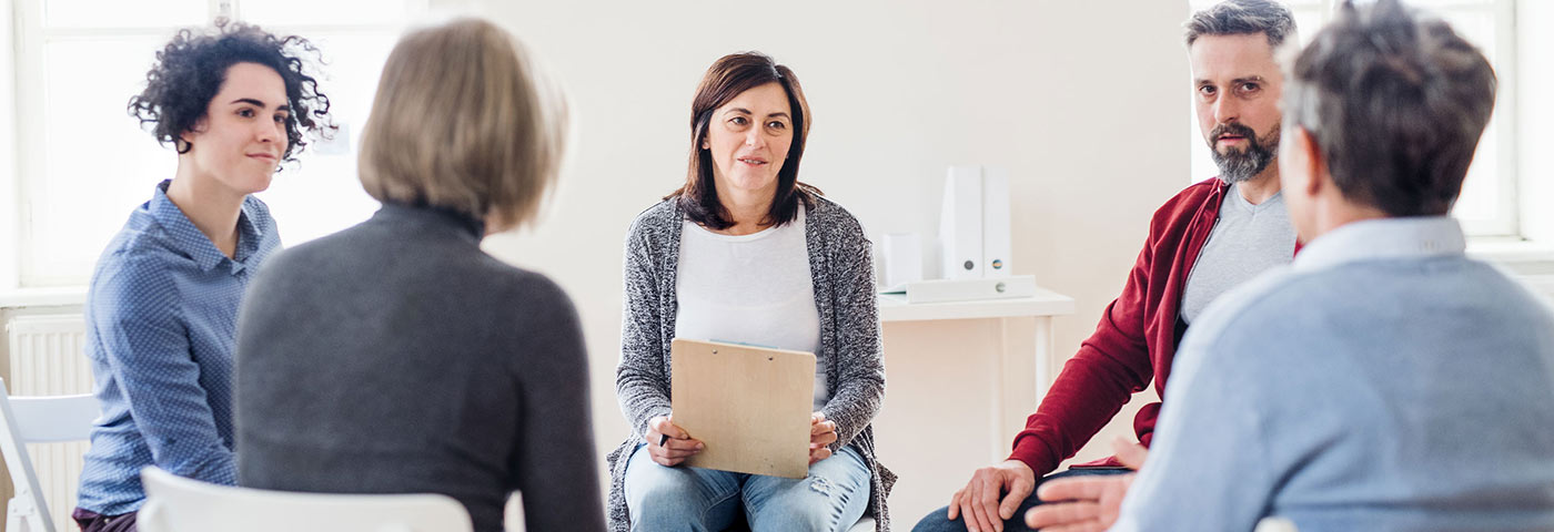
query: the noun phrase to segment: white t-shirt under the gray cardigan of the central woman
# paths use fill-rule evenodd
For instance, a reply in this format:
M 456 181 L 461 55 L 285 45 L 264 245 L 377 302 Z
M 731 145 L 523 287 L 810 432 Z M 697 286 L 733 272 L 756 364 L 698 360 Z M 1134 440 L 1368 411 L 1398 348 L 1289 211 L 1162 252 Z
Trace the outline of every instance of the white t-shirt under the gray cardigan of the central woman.
M 814 306 L 803 214 L 800 208 L 791 223 L 744 236 L 682 222 L 674 338 L 817 354 L 821 310 Z M 814 411 L 830 399 L 825 366 L 816 364 Z

